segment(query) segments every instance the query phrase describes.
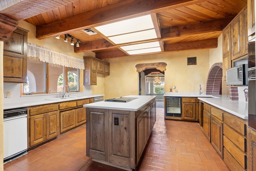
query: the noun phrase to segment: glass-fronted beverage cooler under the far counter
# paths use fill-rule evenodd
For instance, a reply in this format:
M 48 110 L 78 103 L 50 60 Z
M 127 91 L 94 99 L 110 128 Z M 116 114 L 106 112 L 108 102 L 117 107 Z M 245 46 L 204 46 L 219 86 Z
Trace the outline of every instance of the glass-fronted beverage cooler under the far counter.
M 166 97 L 166 116 L 181 117 L 181 97 Z

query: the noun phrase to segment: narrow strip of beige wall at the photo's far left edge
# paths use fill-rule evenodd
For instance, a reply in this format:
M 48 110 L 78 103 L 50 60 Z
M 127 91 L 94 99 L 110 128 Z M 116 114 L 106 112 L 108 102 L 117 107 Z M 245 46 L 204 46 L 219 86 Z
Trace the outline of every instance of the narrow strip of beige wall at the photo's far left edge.
M 0 66 L 3 66 L 3 52 L 4 52 L 4 42 L 1 42 L 0 41 Z M 3 146 L 3 119 L 4 119 L 4 114 L 3 114 L 3 111 L 4 111 L 4 107 L 3 107 L 3 97 L 4 97 L 4 94 L 3 94 L 3 82 L 4 82 L 4 75 L 3 75 L 3 67 L 0 67 L 0 171 L 3 171 L 4 170 L 4 146 Z

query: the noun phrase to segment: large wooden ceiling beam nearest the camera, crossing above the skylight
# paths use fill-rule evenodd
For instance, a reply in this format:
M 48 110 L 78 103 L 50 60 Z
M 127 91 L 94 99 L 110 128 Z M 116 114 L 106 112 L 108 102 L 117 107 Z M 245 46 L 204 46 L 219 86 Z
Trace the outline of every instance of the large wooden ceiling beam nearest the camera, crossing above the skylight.
M 154 14 L 207 0 L 125 0 L 76 16 L 36 27 L 36 38 L 44 39 L 77 30 L 92 28 L 135 16 Z

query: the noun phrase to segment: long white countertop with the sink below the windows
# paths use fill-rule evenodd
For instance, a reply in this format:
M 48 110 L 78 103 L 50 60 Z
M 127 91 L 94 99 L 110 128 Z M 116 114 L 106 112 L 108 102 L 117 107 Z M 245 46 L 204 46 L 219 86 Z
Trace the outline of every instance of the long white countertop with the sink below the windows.
M 78 99 L 87 99 L 87 98 L 92 98 L 92 97 L 99 97 L 99 96 L 104 96 L 104 94 L 100 95 L 85 95 L 85 96 L 76 96 L 76 97 L 70 97 L 66 99 L 59 99 L 59 100 L 49 100 L 49 98 L 44 97 L 42 99 L 37 99 L 37 100 L 24 100 L 24 101 L 16 101 L 16 102 L 11 102 L 11 103 L 4 103 L 4 110 L 5 109 L 14 109 L 14 108 L 19 108 L 19 107 L 28 107 L 28 106 L 34 106 L 34 105 L 43 105 L 43 104 L 49 104 L 49 103 L 58 103 L 58 102 L 63 102 L 63 101 L 71 101 L 71 100 L 78 100 Z M 54 98 L 52 98 L 54 99 Z

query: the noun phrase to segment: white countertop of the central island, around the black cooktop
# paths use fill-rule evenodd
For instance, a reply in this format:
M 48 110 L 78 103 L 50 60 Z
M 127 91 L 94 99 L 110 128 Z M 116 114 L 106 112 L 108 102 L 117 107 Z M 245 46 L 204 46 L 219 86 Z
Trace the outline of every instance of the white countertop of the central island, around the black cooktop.
M 125 97 L 136 97 L 128 102 L 113 102 L 113 101 L 99 101 L 96 103 L 89 103 L 84 107 L 99 108 L 99 109 L 114 109 L 114 110 L 127 110 L 138 111 L 141 107 L 146 105 L 149 101 L 156 98 L 155 95 L 128 95 Z

